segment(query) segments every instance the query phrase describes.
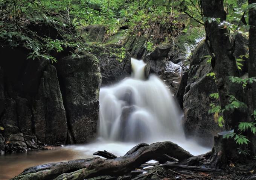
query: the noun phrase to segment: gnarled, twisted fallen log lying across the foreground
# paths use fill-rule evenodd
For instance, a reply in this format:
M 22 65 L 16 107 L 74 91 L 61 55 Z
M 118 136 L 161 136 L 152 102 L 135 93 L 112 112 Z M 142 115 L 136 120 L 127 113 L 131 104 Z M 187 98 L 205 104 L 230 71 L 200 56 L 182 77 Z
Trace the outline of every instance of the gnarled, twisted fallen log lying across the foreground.
M 25 169 L 12 180 L 83 180 L 98 176 L 117 177 L 139 168 L 149 160 L 163 161 L 163 156 L 173 157 L 180 161 L 193 155 L 172 142 L 157 142 L 151 145 L 139 144 L 125 156 L 116 159 L 102 159 L 100 157 L 71 160 L 61 163 L 49 163 Z

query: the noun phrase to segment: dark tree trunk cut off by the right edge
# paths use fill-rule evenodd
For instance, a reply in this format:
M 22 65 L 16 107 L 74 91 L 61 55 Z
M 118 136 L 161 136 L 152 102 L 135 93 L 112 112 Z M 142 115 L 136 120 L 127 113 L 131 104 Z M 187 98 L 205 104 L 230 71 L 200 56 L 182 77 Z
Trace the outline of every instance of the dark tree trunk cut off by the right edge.
M 248 0 L 248 4 L 251 5 L 256 3 L 256 0 Z M 248 65 L 248 75 L 249 77 L 256 77 L 256 10 L 249 9 L 249 65 Z M 252 99 L 252 109 L 256 109 L 256 82 L 250 86 L 251 99 Z M 251 118 L 253 121 L 254 119 Z M 251 141 L 251 151 L 256 154 L 256 138 L 250 133 L 249 139 Z

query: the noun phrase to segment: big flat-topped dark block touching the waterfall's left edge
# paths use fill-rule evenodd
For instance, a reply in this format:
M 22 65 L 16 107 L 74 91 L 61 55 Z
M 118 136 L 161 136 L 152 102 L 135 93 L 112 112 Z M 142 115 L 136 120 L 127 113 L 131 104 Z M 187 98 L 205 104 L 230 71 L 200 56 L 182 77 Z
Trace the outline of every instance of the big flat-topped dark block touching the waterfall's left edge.
M 96 135 L 99 113 L 101 73 L 98 59 L 85 53 L 58 61 L 58 77 L 67 113 L 67 122 L 76 143 L 84 143 Z

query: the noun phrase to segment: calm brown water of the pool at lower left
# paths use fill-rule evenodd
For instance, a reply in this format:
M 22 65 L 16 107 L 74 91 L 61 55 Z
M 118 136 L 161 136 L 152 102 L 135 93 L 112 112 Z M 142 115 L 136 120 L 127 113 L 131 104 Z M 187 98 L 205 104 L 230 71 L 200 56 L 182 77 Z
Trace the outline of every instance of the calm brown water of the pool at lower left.
M 9 180 L 23 172 L 24 169 L 50 162 L 64 162 L 92 156 L 78 151 L 57 147 L 55 150 L 29 151 L 23 154 L 7 154 L 0 156 L 0 180 Z

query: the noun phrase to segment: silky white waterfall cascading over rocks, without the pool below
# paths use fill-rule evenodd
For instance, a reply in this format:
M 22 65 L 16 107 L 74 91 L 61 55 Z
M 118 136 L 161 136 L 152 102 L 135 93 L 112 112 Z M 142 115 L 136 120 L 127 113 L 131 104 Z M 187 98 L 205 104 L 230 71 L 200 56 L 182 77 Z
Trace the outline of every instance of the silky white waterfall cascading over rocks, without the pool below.
M 109 141 L 156 142 L 184 139 L 182 114 L 157 76 L 145 79 L 145 63 L 131 59 L 131 77 L 101 88 L 99 136 Z

